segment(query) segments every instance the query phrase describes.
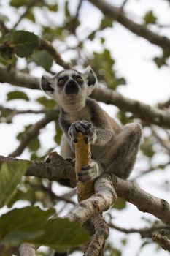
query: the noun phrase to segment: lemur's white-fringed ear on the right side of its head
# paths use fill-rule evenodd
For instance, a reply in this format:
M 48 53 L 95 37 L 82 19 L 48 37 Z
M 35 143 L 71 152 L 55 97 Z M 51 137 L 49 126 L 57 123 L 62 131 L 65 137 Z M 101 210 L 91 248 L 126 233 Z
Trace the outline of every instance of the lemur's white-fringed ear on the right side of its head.
M 95 88 L 96 82 L 97 82 L 95 72 L 93 72 L 93 69 L 90 66 L 88 66 L 85 69 L 85 72 L 83 75 L 88 84 L 88 95 L 90 95 L 92 93 L 93 89 Z

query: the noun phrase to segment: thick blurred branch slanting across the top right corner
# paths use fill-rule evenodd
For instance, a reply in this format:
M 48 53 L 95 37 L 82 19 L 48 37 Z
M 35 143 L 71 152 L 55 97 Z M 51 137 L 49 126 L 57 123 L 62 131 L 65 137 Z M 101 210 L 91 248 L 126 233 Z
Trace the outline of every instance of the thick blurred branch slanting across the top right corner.
M 135 23 L 133 20 L 129 19 L 120 8 L 114 7 L 113 5 L 107 3 L 107 1 L 88 1 L 98 7 L 98 9 L 101 10 L 105 16 L 111 18 L 112 20 L 116 20 L 118 23 L 125 26 L 126 29 L 129 29 L 139 37 L 144 37 L 152 44 L 158 45 L 166 50 L 170 50 L 170 39 L 168 37 L 160 36 L 150 31 L 150 29 L 147 29 L 146 26 Z

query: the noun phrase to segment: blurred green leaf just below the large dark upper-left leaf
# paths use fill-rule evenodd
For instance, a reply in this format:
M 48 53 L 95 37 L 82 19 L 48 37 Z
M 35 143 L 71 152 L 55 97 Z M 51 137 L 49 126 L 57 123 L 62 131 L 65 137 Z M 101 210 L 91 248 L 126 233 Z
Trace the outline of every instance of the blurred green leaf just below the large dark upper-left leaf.
M 36 51 L 32 56 L 30 61 L 34 61 L 36 65 L 44 67 L 44 69 L 49 70 L 53 64 L 53 57 L 47 53 L 46 50 Z

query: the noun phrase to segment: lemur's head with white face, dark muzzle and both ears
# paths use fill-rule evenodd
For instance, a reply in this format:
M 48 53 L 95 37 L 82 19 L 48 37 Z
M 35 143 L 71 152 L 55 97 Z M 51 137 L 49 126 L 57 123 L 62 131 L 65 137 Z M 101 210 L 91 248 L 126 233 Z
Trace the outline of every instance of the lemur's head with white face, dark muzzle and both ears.
M 77 110 L 85 105 L 85 99 L 96 85 L 96 75 L 88 67 L 85 73 L 77 70 L 65 70 L 53 78 L 42 76 L 41 88 L 55 99 L 66 111 Z

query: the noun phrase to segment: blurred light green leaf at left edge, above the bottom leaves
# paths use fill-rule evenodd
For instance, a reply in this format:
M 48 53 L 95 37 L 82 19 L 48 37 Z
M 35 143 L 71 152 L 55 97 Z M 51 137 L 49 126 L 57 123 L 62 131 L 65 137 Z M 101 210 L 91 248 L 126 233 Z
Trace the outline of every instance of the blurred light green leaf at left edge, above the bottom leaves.
M 5 162 L 0 170 L 0 207 L 12 199 L 15 195 L 16 187 L 20 183 L 22 176 L 30 162 L 19 160 L 18 162 Z

